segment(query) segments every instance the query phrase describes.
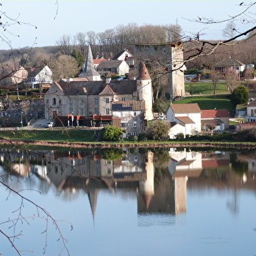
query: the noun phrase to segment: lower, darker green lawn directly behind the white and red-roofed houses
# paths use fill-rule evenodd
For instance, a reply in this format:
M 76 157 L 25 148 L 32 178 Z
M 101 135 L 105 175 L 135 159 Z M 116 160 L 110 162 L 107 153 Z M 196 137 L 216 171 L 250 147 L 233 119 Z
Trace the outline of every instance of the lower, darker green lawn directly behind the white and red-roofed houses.
M 227 95 L 208 95 L 208 96 L 194 96 L 185 97 L 180 101 L 174 101 L 172 104 L 186 104 L 186 103 L 198 103 L 200 109 L 227 109 L 229 111 L 234 111 L 234 105 L 230 101 L 230 94 Z

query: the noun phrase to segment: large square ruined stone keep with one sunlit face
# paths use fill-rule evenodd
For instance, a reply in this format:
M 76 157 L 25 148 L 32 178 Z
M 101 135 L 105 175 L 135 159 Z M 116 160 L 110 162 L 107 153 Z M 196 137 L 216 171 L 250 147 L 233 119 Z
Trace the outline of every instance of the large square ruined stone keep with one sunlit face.
M 163 87 L 160 99 L 171 100 L 185 95 L 182 44 L 136 44 L 133 53 L 136 57 L 135 74 L 143 61 L 150 73 L 159 76 L 156 82 Z

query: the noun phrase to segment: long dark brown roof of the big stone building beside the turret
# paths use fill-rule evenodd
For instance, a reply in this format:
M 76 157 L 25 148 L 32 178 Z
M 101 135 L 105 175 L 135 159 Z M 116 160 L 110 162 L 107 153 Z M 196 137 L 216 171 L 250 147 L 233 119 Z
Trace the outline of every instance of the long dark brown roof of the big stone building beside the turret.
M 59 86 L 63 89 L 65 95 L 99 95 L 103 93 L 103 89 L 106 87 L 105 81 L 71 81 L 69 83 L 61 80 Z M 110 83 L 109 95 L 113 93 L 118 94 L 132 94 L 136 91 L 136 80 L 120 80 Z M 111 91 L 112 90 L 112 91 Z

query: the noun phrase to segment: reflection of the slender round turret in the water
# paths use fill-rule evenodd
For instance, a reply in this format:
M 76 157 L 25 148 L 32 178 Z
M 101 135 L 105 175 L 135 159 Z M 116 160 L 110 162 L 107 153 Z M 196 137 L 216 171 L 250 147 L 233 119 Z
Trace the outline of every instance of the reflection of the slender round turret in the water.
M 139 183 L 140 191 L 142 192 L 146 207 L 150 205 L 150 201 L 154 195 L 154 168 L 153 168 L 153 153 L 148 152 L 148 162 L 146 163 L 146 180 Z

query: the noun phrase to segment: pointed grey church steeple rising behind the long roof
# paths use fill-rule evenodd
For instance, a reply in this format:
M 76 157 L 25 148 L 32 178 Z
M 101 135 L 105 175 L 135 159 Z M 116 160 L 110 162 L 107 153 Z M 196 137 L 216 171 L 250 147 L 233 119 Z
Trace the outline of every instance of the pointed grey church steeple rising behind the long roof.
M 79 74 L 80 78 L 88 78 L 89 81 L 100 81 L 101 75 L 95 71 L 93 67 L 93 54 L 91 53 L 91 46 L 88 46 L 88 55 L 86 58 L 86 63 L 84 70 Z

